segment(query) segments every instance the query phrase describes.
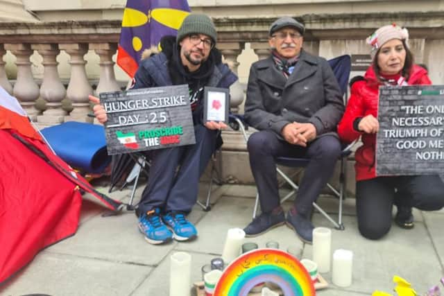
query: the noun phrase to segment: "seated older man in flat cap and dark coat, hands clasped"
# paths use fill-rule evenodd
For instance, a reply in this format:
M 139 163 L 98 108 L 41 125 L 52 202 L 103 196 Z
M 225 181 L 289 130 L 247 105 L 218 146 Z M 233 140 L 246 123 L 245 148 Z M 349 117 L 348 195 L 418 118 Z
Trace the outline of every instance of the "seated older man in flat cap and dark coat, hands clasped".
M 302 49 L 304 33 L 305 26 L 296 19 L 274 21 L 268 39 L 271 55 L 250 69 L 245 116 L 259 131 L 248 139 L 248 153 L 262 214 L 244 229 L 247 236 L 287 223 L 311 243 L 312 202 L 341 153 L 336 134 L 344 110 L 341 91 L 328 62 Z M 287 217 L 280 206 L 275 157 L 310 159 Z

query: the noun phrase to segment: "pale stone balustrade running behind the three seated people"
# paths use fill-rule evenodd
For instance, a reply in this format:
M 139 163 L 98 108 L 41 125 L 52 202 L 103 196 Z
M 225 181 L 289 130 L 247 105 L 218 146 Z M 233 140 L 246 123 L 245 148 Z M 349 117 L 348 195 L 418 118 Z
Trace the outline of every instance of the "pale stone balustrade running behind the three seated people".
M 217 47 L 242 82 L 231 89 L 233 112 L 243 112 L 244 87 L 251 62 L 269 54 L 268 26 L 274 19 L 214 18 Z M 444 84 L 442 11 L 303 15 L 300 19 L 307 27 L 305 50 L 327 59 L 342 54 L 368 54 L 364 40 L 375 28 L 393 22 L 407 26 L 416 62 L 429 67 L 434 84 Z M 117 20 L 0 23 L 1 87 L 19 99 L 37 126 L 67 120 L 91 121 L 87 117 L 88 95 L 124 88 L 129 79 L 122 73 L 117 77 L 113 60 L 120 26 Z M 69 69 L 63 77 L 62 68 Z M 351 76 L 362 73 L 353 71 Z M 245 170 L 248 158 L 240 134 L 228 131 L 223 133 L 223 138 L 227 156 L 223 177 L 251 182 L 251 175 Z M 353 186 L 354 182 L 349 184 Z

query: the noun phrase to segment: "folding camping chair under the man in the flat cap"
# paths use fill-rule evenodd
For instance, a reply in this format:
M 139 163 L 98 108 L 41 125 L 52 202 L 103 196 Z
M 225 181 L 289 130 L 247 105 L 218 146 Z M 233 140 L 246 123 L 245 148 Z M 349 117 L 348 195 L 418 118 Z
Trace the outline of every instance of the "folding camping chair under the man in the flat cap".
M 344 101 L 347 103 L 347 87 L 348 87 L 348 78 L 350 76 L 350 55 L 341 55 L 337 58 L 334 58 L 332 60 L 328 60 L 328 63 L 330 64 L 330 67 L 332 67 L 334 76 L 336 76 L 336 79 L 338 80 L 339 86 L 341 88 L 342 94 L 344 96 Z M 345 104 L 346 105 L 346 104 Z M 244 119 L 241 116 L 237 116 L 234 119 L 237 122 L 237 125 L 239 125 L 239 130 L 241 130 L 241 133 L 244 135 L 245 141 L 248 141 L 248 135 L 246 133 L 246 129 L 248 128 L 248 125 L 246 125 Z M 354 142 L 355 143 L 355 142 Z M 332 217 L 330 217 L 329 214 L 327 214 L 321 207 L 316 204 L 316 202 L 313 202 L 313 206 L 316 210 L 318 210 L 327 220 L 329 220 L 336 229 L 344 229 L 343 223 L 342 223 L 342 203 L 343 199 L 345 198 L 345 164 L 347 161 L 347 157 L 352 153 L 351 148 L 354 145 L 354 143 L 351 143 L 349 145 L 344 145 L 343 150 L 341 151 L 341 155 L 339 157 L 339 160 L 341 161 L 341 171 L 339 175 L 339 190 L 335 189 L 334 186 L 327 183 L 327 187 L 330 188 L 334 195 L 339 198 L 339 214 L 338 214 L 338 221 L 334 220 Z M 291 168 L 301 168 L 300 171 L 302 171 L 302 168 L 307 166 L 309 164 L 309 159 L 307 158 L 293 158 L 293 157 L 277 157 L 275 159 L 276 164 L 279 164 L 281 166 L 287 166 Z M 298 171 L 298 173 L 300 173 Z M 296 195 L 296 192 L 298 191 L 298 185 L 291 180 L 291 178 L 286 175 L 280 168 L 277 168 L 277 172 L 279 175 L 284 179 L 285 182 L 290 184 L 292 190 L 290 193 L 284 196 L 284 198 L 281 198 L 281 202 L 284 202 L 285 200 L 289 199 L 292 195 Z M 259 193 L 256 195 L 255 200 L 255 208 L 253 210 L 253 218 L 255 218 L 257 214 L 257 207 L 259 205 Z

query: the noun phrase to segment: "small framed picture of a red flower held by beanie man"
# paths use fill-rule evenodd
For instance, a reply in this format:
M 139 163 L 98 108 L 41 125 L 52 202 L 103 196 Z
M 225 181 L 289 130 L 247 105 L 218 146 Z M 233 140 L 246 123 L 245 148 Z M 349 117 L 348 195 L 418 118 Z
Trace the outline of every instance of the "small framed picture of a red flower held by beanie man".
M 223 121 L 228 123 L 230 89 L 205 87 L 203 99 L 203 122 Z

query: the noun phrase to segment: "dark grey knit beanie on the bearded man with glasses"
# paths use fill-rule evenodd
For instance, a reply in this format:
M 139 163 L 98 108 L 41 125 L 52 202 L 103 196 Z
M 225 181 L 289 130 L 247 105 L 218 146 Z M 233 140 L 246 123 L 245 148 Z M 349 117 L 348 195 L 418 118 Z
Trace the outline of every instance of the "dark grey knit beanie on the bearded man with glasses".
M 176 42 L 179 43 L 187 35 L 205 34 L 211 37 L 216 44 L 217 33 L 213 21 L 207 15 L 191 13 L 183 20 L 182 26 L 178 30 Z

